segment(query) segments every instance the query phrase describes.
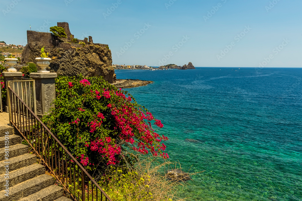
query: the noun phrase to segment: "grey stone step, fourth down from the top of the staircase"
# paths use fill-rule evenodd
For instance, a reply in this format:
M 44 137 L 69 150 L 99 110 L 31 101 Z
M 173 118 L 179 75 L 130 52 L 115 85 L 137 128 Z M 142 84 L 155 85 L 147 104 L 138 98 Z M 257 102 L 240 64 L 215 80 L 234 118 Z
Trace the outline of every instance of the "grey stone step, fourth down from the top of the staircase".
M 6 163 L 9 162 L 9 163 Z M 35 155 L 32 154 L 23 154 L 20 156 L 16 156 L 13 158 L 8 158 L 8 160 L 3 160 L 0 161 L 0 174 L 4 174 L 7 168 L 7 164 L 8 164 L 8 168 L 9 171 L 14 171 L 17 170 L 19 168 L 24 168 L 25 166 L 28 165 L 32 165 L 34 163 L 37 163 L 37 158 Z M 6 167 L 4 167 L 6 166 Z

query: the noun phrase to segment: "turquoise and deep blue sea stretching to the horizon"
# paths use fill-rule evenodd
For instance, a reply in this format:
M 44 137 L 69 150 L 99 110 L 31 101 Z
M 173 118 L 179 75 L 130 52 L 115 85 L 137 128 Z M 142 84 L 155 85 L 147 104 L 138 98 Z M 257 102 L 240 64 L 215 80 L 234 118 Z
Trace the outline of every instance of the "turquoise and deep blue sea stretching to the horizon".
M 302 200 L 302 69 L 116 70 L 162 120 L 170 159 L 193 176 L 188 200 Z M 186 139 L 194 139 L 188 142 Z

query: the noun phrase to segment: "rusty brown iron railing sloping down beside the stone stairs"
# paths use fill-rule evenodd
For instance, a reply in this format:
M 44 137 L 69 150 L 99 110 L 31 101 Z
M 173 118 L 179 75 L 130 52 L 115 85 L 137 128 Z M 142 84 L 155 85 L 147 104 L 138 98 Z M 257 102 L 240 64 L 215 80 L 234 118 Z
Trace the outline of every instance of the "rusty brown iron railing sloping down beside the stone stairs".
M 64 145 L 43 124 L 18 94 L 8 86 L 10 123 L 64 189 L 77 201 L 112 201 Z

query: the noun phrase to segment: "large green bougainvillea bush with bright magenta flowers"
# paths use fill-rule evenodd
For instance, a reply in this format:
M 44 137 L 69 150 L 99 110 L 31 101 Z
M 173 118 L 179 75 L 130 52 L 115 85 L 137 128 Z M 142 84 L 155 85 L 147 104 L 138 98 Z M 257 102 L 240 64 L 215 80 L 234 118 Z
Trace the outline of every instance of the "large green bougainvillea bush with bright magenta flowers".
M 87 170 L 125 163 L 129 150 L 169 158 L 160 120 L 102 77 L 59 76 L 54 104 L 43 122 Z

